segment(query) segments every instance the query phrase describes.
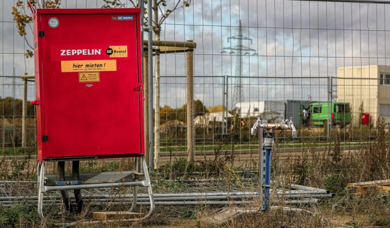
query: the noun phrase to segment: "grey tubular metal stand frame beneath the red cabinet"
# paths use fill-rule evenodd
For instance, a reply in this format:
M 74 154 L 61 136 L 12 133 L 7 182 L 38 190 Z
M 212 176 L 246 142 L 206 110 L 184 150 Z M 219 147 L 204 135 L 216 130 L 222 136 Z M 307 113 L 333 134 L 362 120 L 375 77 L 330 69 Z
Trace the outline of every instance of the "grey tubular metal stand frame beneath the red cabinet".
M 138 169 L 138 160 L 142 166 Z M 80 174 L 79 180 L 73 180 L 72 175 L 65 175 L 65 180 L 58 180 L 56 175 L 44 175 L 44 163 L 38 162 L 37 165 L 38 176 L 38 215 L 41 219 L 43 216 L 43 193 L 51 191 L 66 191 L 66 190 L 81 190 L 81 189 L 98 189 L 98 188 L 114 188 L 119 186 L 132 186 L 133 198 L 132 205 L 129 209 L 133 212 L 137 205 L 138 186 L 147 187 L 149 196 L 150 209 L 149 212 L 142 218 L 129 219 L 123 221 L 137 221 L 148 218 L 154 211 L 154 199 L 151 189 L 149 173 L 147 171 L 146 162 L 142 157 L 134 159 L 133 171 L 122 172 L 103 172 L 103 173 L 89 173 Z M 140 171 L 140 172 L 138 172 Z M 67 179 L 67 180 L 66 180 Z M 69 180 L 70 179 L 70 180 Z M 77 205 L 78 206 L 78 205 Z M 109 221 L 105 221 L 109 222 Z

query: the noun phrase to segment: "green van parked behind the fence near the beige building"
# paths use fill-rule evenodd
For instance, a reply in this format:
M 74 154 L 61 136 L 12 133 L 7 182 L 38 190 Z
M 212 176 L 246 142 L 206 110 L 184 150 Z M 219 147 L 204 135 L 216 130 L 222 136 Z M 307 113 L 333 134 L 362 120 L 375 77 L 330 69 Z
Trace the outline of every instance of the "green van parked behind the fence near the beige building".
M 329 109 L 328 106 L 331 106 Z M 328 123 L 344 127 L 350 123 L 349 103 L 315 102 L 311 103 L 302 113 L 303 124 L 326 126 Z

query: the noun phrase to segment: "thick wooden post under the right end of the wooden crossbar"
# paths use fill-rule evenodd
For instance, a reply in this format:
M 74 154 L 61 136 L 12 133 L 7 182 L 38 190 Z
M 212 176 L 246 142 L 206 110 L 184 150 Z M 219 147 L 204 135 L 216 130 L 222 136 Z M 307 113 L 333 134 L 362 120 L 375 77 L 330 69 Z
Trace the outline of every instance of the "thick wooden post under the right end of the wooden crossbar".
M 192 41 L 192 40 L 187 40 Z M 187 161 L 193 161 L 195 158 L 194 150 L 194 109 L 193 109 L 193 50 L 185 53 L 186 57 L 186 74 L 187 74 Z

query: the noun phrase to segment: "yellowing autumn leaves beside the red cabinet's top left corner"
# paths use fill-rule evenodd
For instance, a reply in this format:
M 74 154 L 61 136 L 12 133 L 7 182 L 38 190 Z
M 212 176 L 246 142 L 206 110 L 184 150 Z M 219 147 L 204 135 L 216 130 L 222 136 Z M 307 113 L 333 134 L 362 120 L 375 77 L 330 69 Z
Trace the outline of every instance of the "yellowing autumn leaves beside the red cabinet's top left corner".
M 59 5 L 61 4 L 61 0 L 29 0 L 32 5 L 35 6 L 35 8 L 59 8 Z M 26 7 L 27 1 L 24 0 L 17 0 L 15 5 L 12 6 L 12 15 L 13 20 L 16 22 L 16 28 L 19 35 L 23 36 L 27 46 L 31 49 L 26 49 L 24 56 L 26 58 L 32 57 L 34 55 L 33 47 L 30 44 L 30 42 L 27 40 L 26 35 L 26 27 L 28 27 L 28 30 L 32 33 L 32 13 Z

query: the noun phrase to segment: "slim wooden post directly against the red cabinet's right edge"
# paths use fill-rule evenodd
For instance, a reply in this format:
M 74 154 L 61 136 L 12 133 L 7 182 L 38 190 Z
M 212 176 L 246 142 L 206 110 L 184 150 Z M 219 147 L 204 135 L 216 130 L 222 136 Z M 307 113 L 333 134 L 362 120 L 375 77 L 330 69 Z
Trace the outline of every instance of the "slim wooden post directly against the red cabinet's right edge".
M 144 132 L 144 145 L 145 145 L 145 154 L 144 159 L 146 164 L 149 164 L 149 149 L 150 149 L 150 142 L 149 142 L 149 100 L 147 99 L 149 97 L 149 76 L 147 72 L 147 65 L 148 65 L 148 56 L 147 56 L 147 50 L 143 51 L 143 97 L 145 98 L 143 102 L 143 132 Z

